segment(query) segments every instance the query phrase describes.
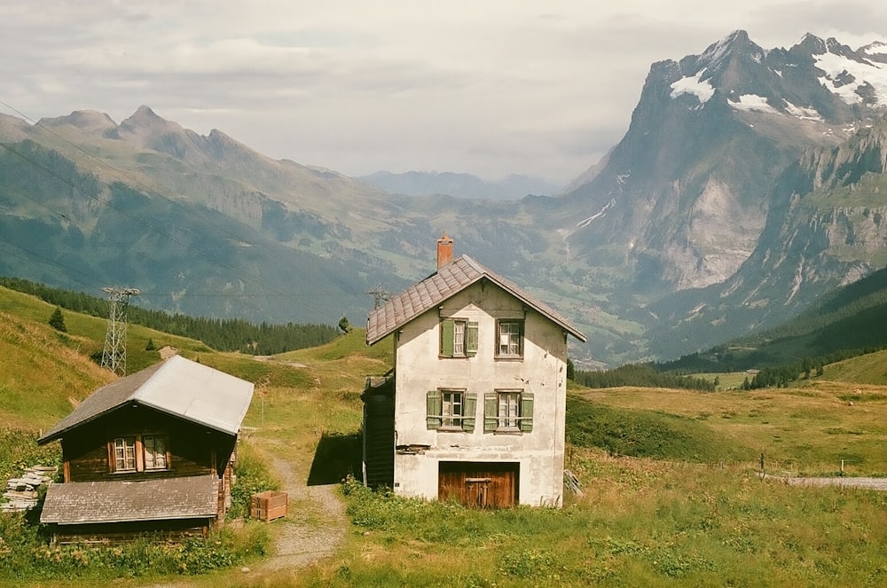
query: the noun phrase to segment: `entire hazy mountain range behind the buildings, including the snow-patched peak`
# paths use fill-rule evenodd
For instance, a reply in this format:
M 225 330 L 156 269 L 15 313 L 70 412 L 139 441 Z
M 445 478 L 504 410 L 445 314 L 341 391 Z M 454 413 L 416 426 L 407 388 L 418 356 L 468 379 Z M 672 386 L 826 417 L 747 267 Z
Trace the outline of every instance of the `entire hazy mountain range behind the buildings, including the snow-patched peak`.
M 562 195 L 521 184 L 548 194 L 521 200 L 459 174 L 358 181 L 271 160 L 147 106 L 119 124 L 0 116 L 0 273 L 137 286 L 134 303 L 189 314 L 360 324 L 382 290 L 434 270 L 447 231 L 575 321 L 577 363 L 677 357 L 887 265 L 885 105 L 883 43 L 764 50 L 737 31 L 653 64 L 608 156 Z M 455 193 L 405 195 L 423 185 Z

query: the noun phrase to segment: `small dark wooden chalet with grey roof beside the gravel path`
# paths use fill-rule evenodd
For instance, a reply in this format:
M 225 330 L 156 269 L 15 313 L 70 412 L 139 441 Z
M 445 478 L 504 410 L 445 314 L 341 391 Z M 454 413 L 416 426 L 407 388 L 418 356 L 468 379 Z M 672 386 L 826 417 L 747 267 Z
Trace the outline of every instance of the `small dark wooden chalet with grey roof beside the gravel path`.
M 231 505 L 252 396 L 252 383 L 180 356 L 99 388 L 37 441 L 59 440 L 64 464 L 40 521 L 60 543 L 205 534 Z

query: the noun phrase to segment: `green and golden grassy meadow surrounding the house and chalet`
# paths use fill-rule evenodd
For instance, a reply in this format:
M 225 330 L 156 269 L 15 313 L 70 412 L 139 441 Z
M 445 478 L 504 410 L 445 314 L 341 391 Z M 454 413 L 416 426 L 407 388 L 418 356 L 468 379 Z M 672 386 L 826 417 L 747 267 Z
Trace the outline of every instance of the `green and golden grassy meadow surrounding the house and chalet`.
M 13 429 L 34 435 L 35 429 L 51 425 L 70 410 L 69 398 L 85 396 L 105 381 L 84 353 L 100 345 L 104 332 L 97 318 L 66 315 L 69 333 L 62 336 L 45 325 L 52 310 L 48 305 L 29 310 L 30 318 L 4 309 L 4 300 L 0 298 L 0 312 L 7 313 L 0 321 L 5 362 L 0 371 L 0 427 L 6 435 L 17 435 L 10 432 Z M 90 321 L 98 323 L 85 325 Z M 23 329 L 27 337 L 16 334 Z M 100 333 L 98 340 L 92 332 Z M 145 353 L 149 337 L 167 341 L 163 333 L 134 330 L 130 342 L 136 357 Z M 39 344 L 30 347 L 27 341 Z M 877 354 L 827 366 L 823 379 L 789 388 L 703 393 L 570 386 L 567 467 L 581 482 L 581 495 L 566 493 L 562 509 L 484 512 L 371 492 L 355 481 L 359 396 L 365 376 L 388 371 L 388 341 L 366 348 L 363 332 L 355 330 L 325 346 L 263 362 L 214 353 L 195 341 L 175 342 L 186 357 L 255 381 L 256 394 L 245 421 L 245 451 L 265 464 L 286 459 L 302 484 L 337 484 L 347 521 L 330 521 L 309 498 L 292 496 L 287 519 L 261 527 L 270 545 L 296 523 L 321 531 L 343 525 L 344 538 L 336 551 L 303 568 L 258 571 L 264 556 L 243 553 L 236 565 L 195 576 L 164 570 L 137 578 L 114 578 L 110 572 L 67 578 L 7 572 L 0 584 L 225 588 L 887 583 L 887 494 L 795 487 L 778 477 L 837 475 L 842 459 L 844 474 L 887 473 L 882 449 L 887 441 L 884 382 L 824 379 L 852 373 L 853 361 L 867 362 L 871 372 Z M 73 358 L 59 359 L 64 353 Z M 43 359 L 45 355 L 52 359 Z M 887 365 L 887 357 L 880 359 Z M 31 398 L 21 382 L 31 380 L 32 372 L 13 365 L 27 362 L 36 362 L 43 372 L 34 377 L 39 381 Z M 51 403 L 31 419 L 28 411 L 38 394 Z M 761 453 L 767 473 L 777 477 L 761 479 Z M 0 451 L 4 459 L 9 467 L 19 458 L 4 458 Z M 273 468 L 269 474 L 274 478 Z M 12 541 L 2 529 L 0 537 Z M 241 566 L 255 571 L 245 573 Z

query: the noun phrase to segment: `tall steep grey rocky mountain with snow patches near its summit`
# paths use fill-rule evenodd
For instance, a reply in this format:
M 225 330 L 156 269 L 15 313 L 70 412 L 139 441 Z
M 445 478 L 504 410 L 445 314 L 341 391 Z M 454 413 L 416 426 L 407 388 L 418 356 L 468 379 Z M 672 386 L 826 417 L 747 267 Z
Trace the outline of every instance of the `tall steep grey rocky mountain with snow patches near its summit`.
M 807 35 L 765 51 L 744 31 L 655 63 L 625 137 L 565 199 L 570 251 L 645 291 L 724 281 L 756 246 L 782 169 L 883 113 L 885 69 L 883 44 Z

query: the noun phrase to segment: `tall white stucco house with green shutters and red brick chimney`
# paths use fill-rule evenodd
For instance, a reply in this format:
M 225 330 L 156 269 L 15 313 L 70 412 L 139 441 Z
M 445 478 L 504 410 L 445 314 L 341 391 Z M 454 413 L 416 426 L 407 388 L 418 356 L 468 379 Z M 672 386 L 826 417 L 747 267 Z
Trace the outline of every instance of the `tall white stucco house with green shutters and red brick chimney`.
M 364 392 L 364 475 L 470 506 L 561 506 L 567 337 L 555 310 L 437 242 L 437 271 L 373 310 L 395 365 Z

